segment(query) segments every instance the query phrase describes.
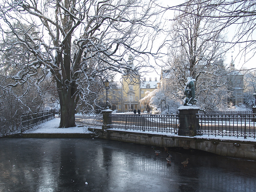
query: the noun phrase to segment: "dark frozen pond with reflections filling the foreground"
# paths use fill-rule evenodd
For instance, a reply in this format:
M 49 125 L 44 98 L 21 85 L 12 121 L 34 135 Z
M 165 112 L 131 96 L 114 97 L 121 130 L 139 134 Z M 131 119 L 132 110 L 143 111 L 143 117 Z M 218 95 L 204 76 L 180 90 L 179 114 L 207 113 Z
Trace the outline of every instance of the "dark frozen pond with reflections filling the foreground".
M 157 150 L 96 138 L 0 138 L 0 191 L 255 191 L 255 161 L 170 151 L 169 165 Z

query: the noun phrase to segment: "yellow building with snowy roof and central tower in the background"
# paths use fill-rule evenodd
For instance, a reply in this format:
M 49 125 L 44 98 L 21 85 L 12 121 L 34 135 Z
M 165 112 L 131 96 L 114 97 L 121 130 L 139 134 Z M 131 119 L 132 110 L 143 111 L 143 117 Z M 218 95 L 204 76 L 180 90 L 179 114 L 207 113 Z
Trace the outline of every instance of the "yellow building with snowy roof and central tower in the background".
M 157 78 L 154 81 L 149 78 L 147 81 L 146 78 L 141 80 L 136 76 L 122 76 L 120 82 L 111 82 L 109 90 L 111 110 L 117 112 L 132 112 L 134 109 L 143 112 L 147 108 L 151 110 L 147 104 L 140 103 L 139 100 L 145 97 L 146 91 L 154 91 L 158 85 Z

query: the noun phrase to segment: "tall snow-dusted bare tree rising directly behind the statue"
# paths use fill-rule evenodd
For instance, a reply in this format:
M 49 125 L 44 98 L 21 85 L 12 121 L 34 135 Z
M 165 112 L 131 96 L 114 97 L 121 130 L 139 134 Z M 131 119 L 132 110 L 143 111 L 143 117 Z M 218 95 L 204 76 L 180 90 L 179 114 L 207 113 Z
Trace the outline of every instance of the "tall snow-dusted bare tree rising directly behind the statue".
M 192 77 L 196 80 L 198 105 L 204 109 L 218 104 L 217 92 L 221 92 L 226 85 L 225 67 L 220 62 L 225 46 L 224 36 L 220 32 L 213 33 L 218 26 L 204 18 L 211 11 L 200 3 L 187 3 L 180 8 L 171 25 L 169 60 L 166 67 L 168 83 L 172 85 L 170 94 L 183 99 L 187 77 Z

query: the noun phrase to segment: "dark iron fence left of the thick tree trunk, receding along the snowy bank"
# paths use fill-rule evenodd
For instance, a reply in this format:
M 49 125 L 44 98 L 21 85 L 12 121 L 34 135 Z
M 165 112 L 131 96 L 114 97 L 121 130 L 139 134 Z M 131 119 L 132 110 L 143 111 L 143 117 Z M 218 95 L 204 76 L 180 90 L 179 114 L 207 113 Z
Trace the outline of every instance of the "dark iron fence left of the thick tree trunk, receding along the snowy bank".
M 26 115 L 23 114 L 21 116 L 20 132 L 22 133 L 36 124 L 43 123 L 53 118 L 55 118 L 55 110 L 41 111 Z

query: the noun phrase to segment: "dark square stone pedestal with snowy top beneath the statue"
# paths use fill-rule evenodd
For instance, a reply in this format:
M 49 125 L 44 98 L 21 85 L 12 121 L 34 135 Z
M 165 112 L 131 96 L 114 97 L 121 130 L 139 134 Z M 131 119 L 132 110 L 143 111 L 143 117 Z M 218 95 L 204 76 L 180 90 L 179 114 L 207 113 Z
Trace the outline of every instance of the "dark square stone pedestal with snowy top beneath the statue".
M 181 106 L 178 110 L 180 111 L 178 135 L 194 137 L 196 130 L 200 127 L 198 120 L 195 118 L 199 108 L 197 106 Z

